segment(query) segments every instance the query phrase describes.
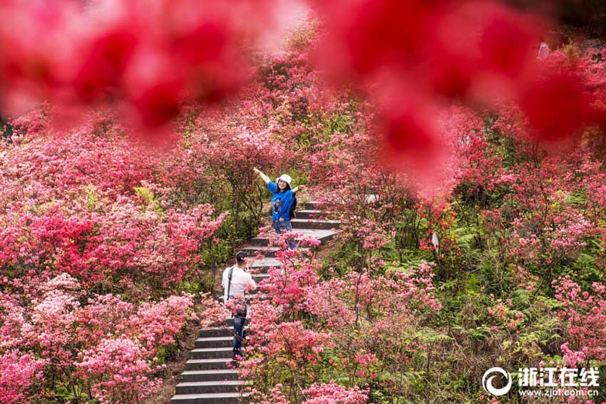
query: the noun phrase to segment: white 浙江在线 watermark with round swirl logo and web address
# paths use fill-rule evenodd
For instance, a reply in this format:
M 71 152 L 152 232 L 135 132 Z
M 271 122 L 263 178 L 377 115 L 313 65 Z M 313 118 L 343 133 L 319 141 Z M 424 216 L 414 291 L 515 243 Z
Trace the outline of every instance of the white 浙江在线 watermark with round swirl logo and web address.
M 600 373 L 597 368 L 518 368 L 514 373 L 518 381 L 518 395 L 540 397 L 583 397 L 597 395 Z M 495 380 L 496 379 L 496 380 Z M 497 388 L 497 380 L 506 380 Z M 502 384 L 502 383 L 501 383 Z M 482 376 L 486 393 L 505 395 L 513 385 L 513 378 L 503 368 L 490 368 Z

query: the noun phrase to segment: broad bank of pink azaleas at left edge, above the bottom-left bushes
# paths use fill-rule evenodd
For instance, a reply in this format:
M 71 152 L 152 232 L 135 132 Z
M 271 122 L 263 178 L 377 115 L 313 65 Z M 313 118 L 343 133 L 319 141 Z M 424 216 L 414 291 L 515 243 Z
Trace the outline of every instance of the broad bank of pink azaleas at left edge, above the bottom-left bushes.
M 0 269 L 64 271 L 90 286 L 135 286 L 145 295 L 203 264 L 202 245 L 226 214 L 170 202 L 173 187 L 148 180 L 170 155 L 125 140 L 108 120 L 93 114 L 61 138 L 47 119 L 14 123 L 19 135 L 0 143 Z

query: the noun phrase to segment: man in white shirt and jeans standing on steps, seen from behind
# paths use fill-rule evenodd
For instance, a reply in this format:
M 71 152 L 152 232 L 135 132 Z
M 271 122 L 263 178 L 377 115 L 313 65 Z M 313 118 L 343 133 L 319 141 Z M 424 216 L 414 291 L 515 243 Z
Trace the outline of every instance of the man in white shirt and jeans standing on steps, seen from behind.
M 243 298 L 247 292 L 257 289 L 257 284 L 247 272 L 247 269 L 247 253 L 243 251 L 238 252 L 236 254 L 236 265 L 229 266 L 223 271 L 222 286 L 225 291 L 225 302 L 229 299 Z M 243 312 L 237 312 L 234 316 L 234 360 L 242 358 L 242 340 L 244 339 L 246 314 L 246 309 L 244 309 Z

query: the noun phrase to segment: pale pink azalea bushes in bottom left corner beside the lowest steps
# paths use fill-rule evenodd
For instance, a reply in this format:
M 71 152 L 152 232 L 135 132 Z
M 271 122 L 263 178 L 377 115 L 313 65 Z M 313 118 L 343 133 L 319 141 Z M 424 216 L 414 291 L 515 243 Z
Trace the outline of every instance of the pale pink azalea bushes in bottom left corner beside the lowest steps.
M 136 403 L 153 395 L 165 347 L 193 311 L 190 294 L 133 304 L 88 295 L 85 284 L 66 273 L 4 279 L 2 286 L 3 402 L 82 395 Z

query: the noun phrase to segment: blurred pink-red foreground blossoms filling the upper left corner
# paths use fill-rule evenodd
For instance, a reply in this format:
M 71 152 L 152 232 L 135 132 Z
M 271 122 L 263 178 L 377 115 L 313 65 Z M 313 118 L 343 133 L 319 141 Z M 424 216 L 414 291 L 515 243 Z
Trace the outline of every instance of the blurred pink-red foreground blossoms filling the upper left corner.
M 62 105 L 65 119 L 113 103 L 153 134 L 188 101 L 220 100 L 245 80 L 247 47 L 276 11 L 272 1 L 262 3 L 2 1 L 19 26 L 0 30 L 0 47 L 14 50 L 0 61 L 2 108 L 47 98 Z

